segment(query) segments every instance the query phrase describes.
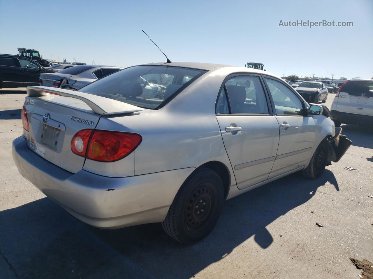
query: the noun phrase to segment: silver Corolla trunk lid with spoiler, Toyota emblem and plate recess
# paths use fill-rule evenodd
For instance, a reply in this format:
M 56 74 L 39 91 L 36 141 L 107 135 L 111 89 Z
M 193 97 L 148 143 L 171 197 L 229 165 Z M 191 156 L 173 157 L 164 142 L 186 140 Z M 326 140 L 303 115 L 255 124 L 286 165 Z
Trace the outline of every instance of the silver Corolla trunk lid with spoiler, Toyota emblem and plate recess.
M 85 157 L 73 153 L 70 147 L 76 132 L 94 129 L 102 115 L 142 110 L 116 100 L 50 87 L 30 86 L 27 93 L 25 108 L 29 131 L 25 133 L 28 147 L 72 173 L 81 170 L 85 162 Z M 112 108 L 113 104 L 116 107 L 107 112 L 105 109 Z

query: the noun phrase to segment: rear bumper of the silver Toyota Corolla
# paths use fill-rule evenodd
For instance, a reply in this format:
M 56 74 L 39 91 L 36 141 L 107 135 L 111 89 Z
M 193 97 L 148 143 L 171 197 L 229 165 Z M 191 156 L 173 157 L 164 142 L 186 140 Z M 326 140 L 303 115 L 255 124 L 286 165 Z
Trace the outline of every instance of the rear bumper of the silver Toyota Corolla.
M 13 141 L 12 154 L 23 177 L 76 218 L 100 228 L 162 222 L 179 187 L 194 170 L 129 177 L 85 170 L 70 173 L 32 152 L 23 137 Z

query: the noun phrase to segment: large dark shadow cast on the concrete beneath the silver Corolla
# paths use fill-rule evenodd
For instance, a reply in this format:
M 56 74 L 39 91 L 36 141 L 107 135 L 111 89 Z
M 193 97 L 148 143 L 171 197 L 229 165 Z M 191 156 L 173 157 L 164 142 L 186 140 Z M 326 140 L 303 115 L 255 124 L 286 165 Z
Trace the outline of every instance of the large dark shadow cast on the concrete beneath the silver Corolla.
M 0 250 L 19 278 L 190 278 L 251 237 L 269 247 L 278 236 L 267 225 L 327 182 L 338 189 L 329 170 L 316 180 L 292 174 L 230 199 L 211 234 L 189 245 L 160 224 L 93 228 L 42 198 L 0 212 Z

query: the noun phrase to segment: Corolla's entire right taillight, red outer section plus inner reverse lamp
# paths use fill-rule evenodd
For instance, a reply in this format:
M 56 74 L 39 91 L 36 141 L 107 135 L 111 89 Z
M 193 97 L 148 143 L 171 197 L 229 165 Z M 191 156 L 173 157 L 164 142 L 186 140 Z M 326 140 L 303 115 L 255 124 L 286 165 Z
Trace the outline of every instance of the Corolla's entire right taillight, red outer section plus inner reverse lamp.
M 142 140 L 138 134 L 93 131 L 82 130 L 74 135 L 71 141 L 73 153 L 95 161 L 113 162 L 134 151 Z

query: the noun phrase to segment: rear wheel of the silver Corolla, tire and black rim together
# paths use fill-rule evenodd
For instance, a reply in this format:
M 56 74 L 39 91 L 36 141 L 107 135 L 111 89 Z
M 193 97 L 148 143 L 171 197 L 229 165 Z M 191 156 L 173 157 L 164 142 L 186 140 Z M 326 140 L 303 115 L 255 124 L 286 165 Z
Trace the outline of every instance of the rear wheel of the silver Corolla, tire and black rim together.
M 215 227 L 223 202 L 223 183 L 217 173 L 196 170 L 176 194 L 162 222 L 163 230 L 181 243 L 201 240 Z

